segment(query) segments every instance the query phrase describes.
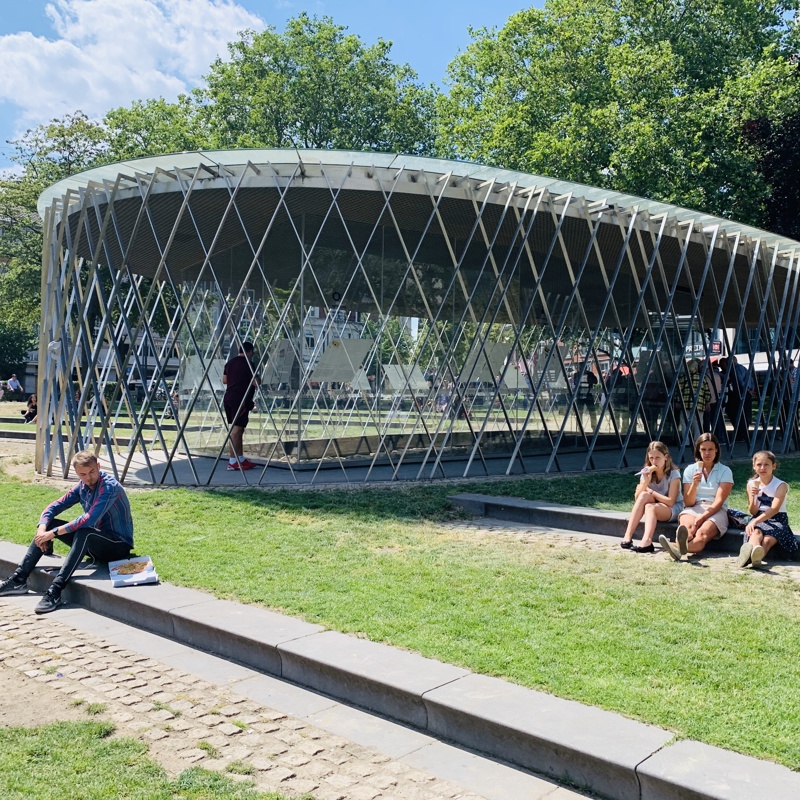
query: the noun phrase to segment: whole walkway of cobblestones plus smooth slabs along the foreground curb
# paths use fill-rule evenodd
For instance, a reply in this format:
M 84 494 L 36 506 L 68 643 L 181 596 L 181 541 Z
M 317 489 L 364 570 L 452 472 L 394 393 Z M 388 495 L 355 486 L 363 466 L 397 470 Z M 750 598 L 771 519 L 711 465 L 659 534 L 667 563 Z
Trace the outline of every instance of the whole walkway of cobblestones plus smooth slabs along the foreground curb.
M 317 800 L 589 796 L 85 609 L 37 617 L 37 601 L 0 600 L 0 684 L 16 672 L 101 704 L 171 774 L 198 765 Z

